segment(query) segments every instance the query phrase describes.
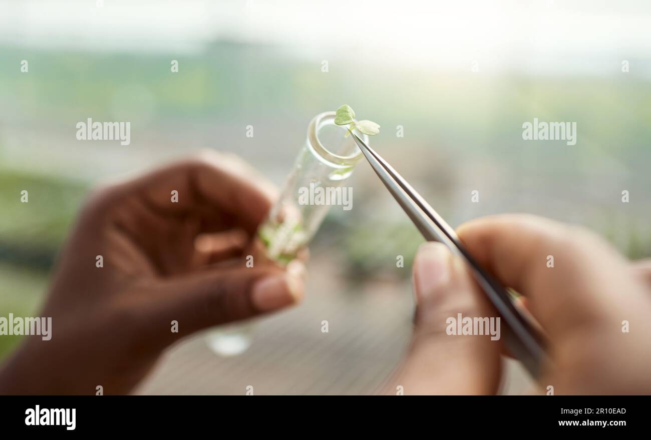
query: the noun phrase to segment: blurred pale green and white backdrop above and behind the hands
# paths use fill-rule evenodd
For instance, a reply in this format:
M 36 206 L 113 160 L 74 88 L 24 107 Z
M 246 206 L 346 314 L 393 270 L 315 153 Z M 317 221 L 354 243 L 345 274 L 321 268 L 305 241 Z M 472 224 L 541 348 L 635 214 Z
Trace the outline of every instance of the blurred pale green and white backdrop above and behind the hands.
M 343 103 L 381 125 L 380 135 L 372 139 L 374 146 L 454 226 L 480 215 L 531 212 L 593 228 L 631 258 L 651 256 L 649 52 L 627 46 L 623 33 L 621 41 L 613 42 L 611 34 L 600 34 L 598 21 L 587 29 L 593 40 L 577 37 L 568 44 L 571 50 L 538 44 L 536 38 L 544 40 L 557 32 L 555 28 L 532 31 L 529 40 L 522 38 L 532 45 L 533 53 L 528 55 L 519 46 L 519 36 L 527 31 L 512 29 L 510 39 L 498 38 L 495 46 L 484 47 L 481 40 L 490 35 L 482 34 L 482 28 L 475 31 L 475 44 L 482 48 L 478 57 L 464 53 L 462 46 L 441 66 L 447 52 L 437 50 L 455 39 L 464 40 L 462 35 L 444 34 L 445 40 L 437 40 L 443 38 L 439 34 L 431 36 L 431 55 L 420 48 L 418 57 L 412 54 L 417 59 L 413 63 L 396 55 L 407 43 L 382 46 L 385 40 L 368 40 L 359 30 L 363 43 L 359 46 L 338 42 L 328 46 L 328 33 L 305 41 L 274 38 L 273 29 L 280 32 L 301 24 L 306 34 L 311 34 L 311 27 L 339 32 L 350 23 L 313 17 L 320 8 L 331 8 L 329 3 L 315 3 L 309 18 L 296 10 L 296 16 L 282 14 L 298 7 L 296 2 L 265 4 L 266 10 L 275 8 L 279 15 L 260 13 L 259 20 L 274 28 L 268 38 L 252 31 L 247 39 L 241 29 L 224 31 L 218 24 L 230 23 L 229 17 L 246 20 L 247 14 L 255 19 L 259 2 L 171 2 L 164 8 L 172 8 L 166 12 L 172 17 L 174 8 L 197 5 L 216 17 L 215 32 L 202 34 L 199 42 L 175 36 L 178 29 L 193 27 L 193 16 L 180 14 L 180 24 L 169 33 L 165 33 L 169 23 L 161 23 L 160 33 L 169 41 L 186 38 L 184 49 L 166 47 L 165 39 L 149 38 L 149 27 L 142 34 L 122 34 L 128 27 L 120 27 L 120 17 L 130 14 L 128 3 L 105 3 L 105 10 L 122 8 L 122 12 L 98 21 L 98 29 L 104 29 L 102 23 L 115 24 L 102 36 L 81 24 L 79 34 L 62 30 L 75 20 L 81 23 L 104 13 L 79 2 L 60 3 L 64 10 L 66 5 L 77 9 L 73 8 L 72 21 L 51 31 L 52 38 L 34 29 L 24 31 L 24 40 L 14 38 L 19 32 L 15 26 L 1 34 L 3 316 L 38 313 L 57 251 L 90 187 L 199 148 L 236 152 L 280 185 L 305 141 L 311 118 Z M 589 2 L 569 3 L 567 10 L 561 5 L 550 9 L 544 2 L 532 2 L 531 8 L 559 16 L 613 12 Z M 47 11 L 39 14 L 2 5 L 7 12 L 5 24 L 46 20 L 39 17 Z M 391 5 L 382 6 L 385 15 L 376 19 L 382 25 L 378 27 L 389 33 L 410 29 L 404 23 L 407 19 L 391 18 Z M 441 20 L 436 7 L 418 5 L 415 13 L 430 8 L 422 13 Z M 511 13 L 513 4 L 501 8 L 511 8 Z M 643 3 L 623 3 L 620 8 L 615 14 L 628 17 L 642 8 L 639 15 L 649 16 Z M 230 15 L 223 18 L 222 10 Z M 522 17 L 531 12 L 527 11 Z M 154 24 L 157 14 L 153 10 Z M 473 32 L 466 16 L 472 12 L 453 9 L 445 14 L 456 17 L 460 33 Z M 147 21 L 146 14 L 133 15 L 132 22 Z M 335 17 L 341 15 L 345 14 Z M 201 29 L 206 27 L 201 23 Z M 586 19 L 586 23 L 591 22 Z M 421 24 L 411 29 L 419 40 L 428 37 L 425 27 L 416 29 Z M 381 33 L 376 27 L 371 31 Z M 79 35 L 84 33 L 95 38 L 83 44 Z M 643 42 L 646 33 L 640 35 Z M 604 39 L 611 44 L 600 46 Z M 421 62 L 423 57 L 433 62 Z M 630 60 L 628 73 L 621 70 L 624 59 Z M 20 70 L 22 60 L 29 62 L 27 73 Z M 178 61 L 178 73 L 171 72 L 172 60 Z M 322 71 L 324 60 L 327 72 Z M 478 72 L 472 70 L 474 60 Z M 543 64 L 544 70 L 536 70 Z M 77 141 L 76 123 L 89 117 L 130 121 L 132 143 Z M 523 141 L 521 126 L 533 118 L 577 122 L 577 144 Z M 245 137 L 249 124 L 255 130 L 253 138 Z M 404 137 L 396 137 L 397 126 L 404 127 Z M 411 258 L 421 242 L 417 231 L 365 163 L 355 171 L 352 186 L 353 209 L 331 210 L 312 254 L 337 261 L 340 276 L 351 286 L 370 279 L 408 282 Z M 29 191 L 27 204 L 20 202 L 23 189 Z M 478 203 L 471 202 L 474 190 L 479 191 Z M 628 204 L 621 201 L 623 190 L 630 191 Z M 396 268 L 396 255 L 405 257 L 407 269 Z M 16 338 L 1 337 L 0 358 L 15 343 Z

